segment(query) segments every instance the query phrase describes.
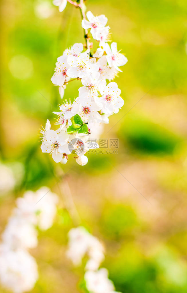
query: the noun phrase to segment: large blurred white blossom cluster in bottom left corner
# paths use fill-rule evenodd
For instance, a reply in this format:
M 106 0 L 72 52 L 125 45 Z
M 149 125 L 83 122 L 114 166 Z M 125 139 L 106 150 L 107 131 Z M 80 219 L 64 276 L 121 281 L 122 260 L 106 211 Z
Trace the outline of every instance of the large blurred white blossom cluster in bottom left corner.
M 47 187 L 27 191 L 16 200 L 0 245 L 0 281 L 7 289 L 22 293 L 35 285 L 37 263 L 28 249 L 37 246 L 36 226 L 41 230 L 52 226 L 57 201 L 57 195 Z

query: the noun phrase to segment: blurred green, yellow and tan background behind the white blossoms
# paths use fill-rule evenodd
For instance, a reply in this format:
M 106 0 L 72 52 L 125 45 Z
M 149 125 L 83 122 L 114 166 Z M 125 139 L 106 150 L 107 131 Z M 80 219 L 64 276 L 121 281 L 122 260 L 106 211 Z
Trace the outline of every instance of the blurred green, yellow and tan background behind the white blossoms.
M 87 10 L 107 16 L 128 63 L 115 80 L 125 104 L 101 136 L 119 138 L 118 154 L 89 154 L 84 167 L 74 166 L 73 158 L 56 165 L 40 150 L 40 125 L 47 118 L 54 122 L 52 111 L 61 102 L 50 81 L 56 58 L 84 42 L 77 8 L 68 3 L 59 13 L 49 1 L 52 15 L 42 19 L 40 3 L 2 2 L 1 160 L 21 162 L 25 174 L 14 192 L 0 198 L 1 232 L 15 198 L 27 189 L 51 188 L 55 170 L 61 175 L 63 168 L 81 224 L 106 248 L 102 267 L 116 291 L 187 292 L 186 1 L 86 2 Z M 76 98 L 79 86 L 69 84 L 64 98 Z M 59 189 L 52 189 L 60 197 L 54 226 L 40 232 L 30 251 L 40 273 L 32 293 L 83 292 L 84 268 L 65 256 L 73 221 Z

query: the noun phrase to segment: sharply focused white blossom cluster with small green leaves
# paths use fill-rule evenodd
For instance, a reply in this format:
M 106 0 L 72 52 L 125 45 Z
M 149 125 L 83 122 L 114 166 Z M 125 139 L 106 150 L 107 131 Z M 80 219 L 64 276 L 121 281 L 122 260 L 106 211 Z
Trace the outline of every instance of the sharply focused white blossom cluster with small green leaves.
M 66 2 L 54 0 L 60 11 L 60 7 L 65 8 Z M 99 42 L 96 52 L 92 55 L 92 43 L 86 35 L 86 49 L 84 50 L 82 43 L 66 49 L 57 58 L 51 78 L 52 83 L 59 86 L 61 98 L 69 82 L 77 79 L 82 83 L 78 89 L 78 97 L 73 101 L 66 99 L 59 105 L 59 111 L 53 112 L 57 115 L 55 124 L 59 128 L 51 130 L 47 120 L 45 129 L 41 130 L 42 152 L 52 154 L 55 162 L 66 163 L 72 152 L 70 145 L 73 144 L 77 163 L 85 165 L 88 162 L 85 153 L 89 150 L 90 135 L 98 129 L 98 125 L 108 123 L 108 117 L 117 113 L 124 104 L 120 96 L 121 90 L 112 80 L 121 71 L 119 67 L 126 64 L 127 58 L 117 50 L 116 42 L 112 42 L 111 46 L 107 43 L 110 27 L 106 26 L 106 16 L 94 16 L 88 11 L 87 18 L 88 20 L 82 20 L 82 27 L 85 31 L 90 29 L 93 39 Z M 94 146 L 98 147 L 97 144 Z

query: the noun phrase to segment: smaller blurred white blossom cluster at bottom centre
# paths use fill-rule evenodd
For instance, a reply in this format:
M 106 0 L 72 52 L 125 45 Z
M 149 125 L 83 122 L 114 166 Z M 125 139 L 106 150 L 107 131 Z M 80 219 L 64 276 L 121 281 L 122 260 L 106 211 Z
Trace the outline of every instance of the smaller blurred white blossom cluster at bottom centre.
M 99 240 L 82 226 L 71 229 L 68 236 L 67 255 L 73 264 L 80 265 L 83 257 L 88 257 L 84 275 L 87 290 L 90 293 L 116 292 L 113 282 L 108 278 L 107 269 L 99 269 L 104 260 L 104 247 Z

